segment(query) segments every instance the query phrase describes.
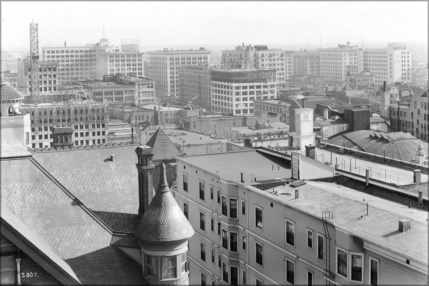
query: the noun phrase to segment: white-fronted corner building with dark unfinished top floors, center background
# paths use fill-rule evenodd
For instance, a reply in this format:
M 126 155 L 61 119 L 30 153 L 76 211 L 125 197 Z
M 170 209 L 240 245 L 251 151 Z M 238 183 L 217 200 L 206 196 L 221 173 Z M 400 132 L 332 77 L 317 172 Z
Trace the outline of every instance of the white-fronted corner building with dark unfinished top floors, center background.
M 272 69 L 211 70 L 211 110 L 253 115 L 253 99 L 276 98 L 275 74 Z

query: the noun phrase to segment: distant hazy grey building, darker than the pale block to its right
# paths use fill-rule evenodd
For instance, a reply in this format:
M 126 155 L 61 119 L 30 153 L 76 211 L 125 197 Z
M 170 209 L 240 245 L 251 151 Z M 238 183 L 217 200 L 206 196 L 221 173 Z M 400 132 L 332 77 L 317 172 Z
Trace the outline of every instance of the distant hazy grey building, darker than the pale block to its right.
M 320 51 L 293 51 L 293 75 L 320 75 Z

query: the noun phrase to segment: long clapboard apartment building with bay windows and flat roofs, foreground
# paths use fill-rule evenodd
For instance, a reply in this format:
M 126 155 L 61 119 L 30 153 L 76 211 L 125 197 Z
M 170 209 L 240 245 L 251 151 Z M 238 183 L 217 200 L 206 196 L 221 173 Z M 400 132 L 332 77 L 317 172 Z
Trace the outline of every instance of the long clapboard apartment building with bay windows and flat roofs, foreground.
M 313 177 L 333 169 L 294 154 L 301 171 Z M 410 213 L 396 202 L 311 177 L 294 181 L 296 173 L 274 151 L 176 159 L 173 195 L 195 230 L 188 251 L 190 285 L 427 280 L 423 210 Z

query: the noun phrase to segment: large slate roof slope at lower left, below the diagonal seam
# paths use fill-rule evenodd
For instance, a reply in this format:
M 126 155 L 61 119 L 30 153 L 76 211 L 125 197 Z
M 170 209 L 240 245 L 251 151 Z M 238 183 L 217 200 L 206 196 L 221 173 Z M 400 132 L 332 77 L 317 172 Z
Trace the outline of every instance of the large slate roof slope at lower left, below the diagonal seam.
M 55 168 L 56 159 L 45 163 Z M 141 284 L 141 266 L 111 246 L 106 226 L 40 168 L 32 157 L 2 160 L 2 207 L 66 261 L 81 283 Z

